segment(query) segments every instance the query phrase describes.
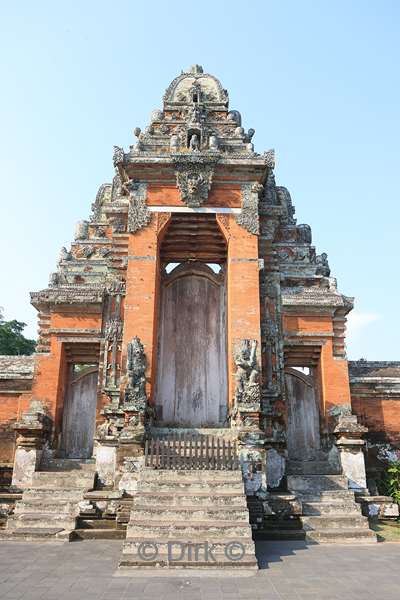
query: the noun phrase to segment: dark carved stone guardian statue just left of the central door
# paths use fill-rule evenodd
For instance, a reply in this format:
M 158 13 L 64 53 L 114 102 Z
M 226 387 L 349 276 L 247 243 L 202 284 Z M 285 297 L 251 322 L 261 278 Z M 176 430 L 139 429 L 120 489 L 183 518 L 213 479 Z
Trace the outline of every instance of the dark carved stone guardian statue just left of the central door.
M 146 408 L 146 366 L 147 360 L 143 344 L 135 336 L 128 344 L 128 386 L 125 390 L 125 404 L 130 410 L 143 411 Z

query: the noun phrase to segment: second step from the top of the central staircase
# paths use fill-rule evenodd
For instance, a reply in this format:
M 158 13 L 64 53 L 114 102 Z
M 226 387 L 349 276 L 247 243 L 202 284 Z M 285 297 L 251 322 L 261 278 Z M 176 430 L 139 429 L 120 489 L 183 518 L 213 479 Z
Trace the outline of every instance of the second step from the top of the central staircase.
M 196 492 L 209 492 L 216 494 L 218 492 L 229 491 L 236 492 L 238 495 L 243 493 L 243 483 L 241 481 L 218 480 L 218 481 L 199 481 L 199 480 L 176 480 L 163 479 L 160 481 L 140 481 L 140 492 L 187 492 L 195 494 Z

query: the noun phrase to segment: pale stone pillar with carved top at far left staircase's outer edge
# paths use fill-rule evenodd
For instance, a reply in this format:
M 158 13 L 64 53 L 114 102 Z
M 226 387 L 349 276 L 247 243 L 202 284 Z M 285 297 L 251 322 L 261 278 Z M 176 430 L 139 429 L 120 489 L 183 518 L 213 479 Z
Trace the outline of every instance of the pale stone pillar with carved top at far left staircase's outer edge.
M 32 484 L 38 469 L 43 446 L 51 430 L 51 420 L 40 400 L 32 399 L 29 409 L 14 425 L 17 433 L 12 486 L 24 489 Z

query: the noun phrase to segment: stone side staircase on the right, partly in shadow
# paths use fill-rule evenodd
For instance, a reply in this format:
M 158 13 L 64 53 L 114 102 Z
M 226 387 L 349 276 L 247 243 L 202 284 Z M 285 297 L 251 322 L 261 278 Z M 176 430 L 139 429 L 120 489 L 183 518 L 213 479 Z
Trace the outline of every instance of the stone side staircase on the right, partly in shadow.
M 305 540 L 369 544 L 377 541 L 344 475 L 288 475 L 288 489 L 302 502 Z

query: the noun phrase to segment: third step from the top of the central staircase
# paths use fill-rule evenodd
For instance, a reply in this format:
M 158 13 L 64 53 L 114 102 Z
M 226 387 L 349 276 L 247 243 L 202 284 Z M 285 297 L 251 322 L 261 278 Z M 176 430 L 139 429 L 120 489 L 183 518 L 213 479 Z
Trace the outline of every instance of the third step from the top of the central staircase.
M 192 492 L 190 489 L 186 491 L 143 491 L 140 490 L 140 494 L 135 499 L 140 500 L 142 506 L 181 506 L 181 505 L 196 505 L 196 506 L 209 506 L 210 508 L 216 506 L 243 506 L 246 507 L 246 497 L 244 496 L 243 490 L 240 494 L 237 492 L 220 492 L 212 493 L 210 491 L 195 491 Z

